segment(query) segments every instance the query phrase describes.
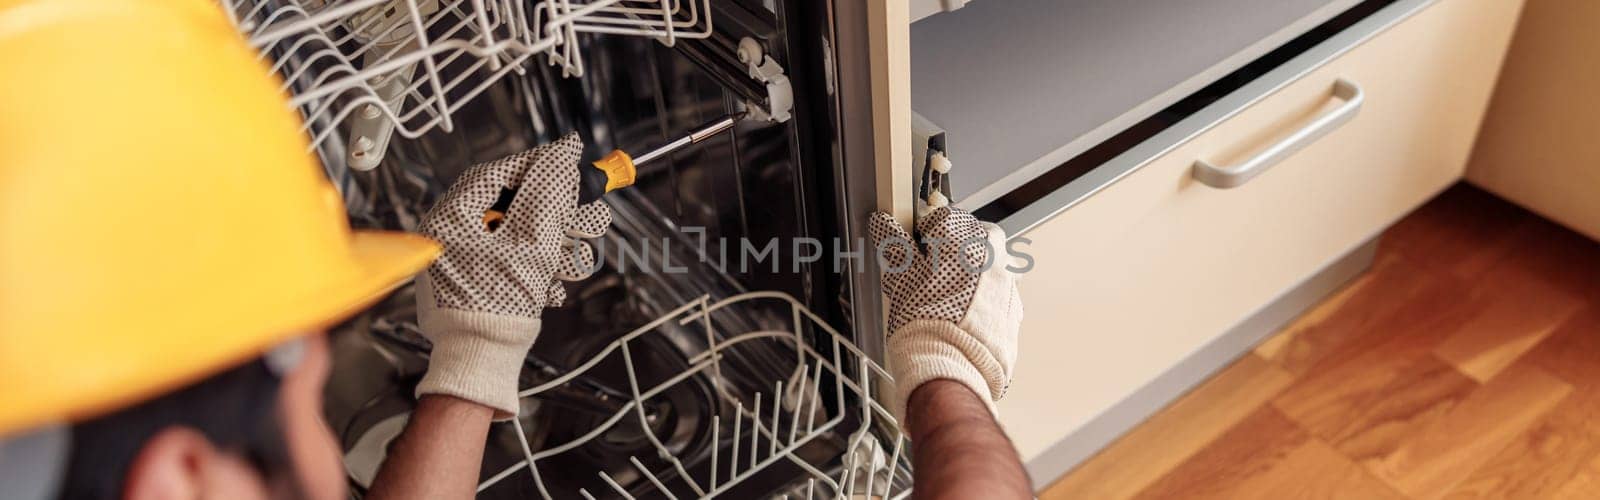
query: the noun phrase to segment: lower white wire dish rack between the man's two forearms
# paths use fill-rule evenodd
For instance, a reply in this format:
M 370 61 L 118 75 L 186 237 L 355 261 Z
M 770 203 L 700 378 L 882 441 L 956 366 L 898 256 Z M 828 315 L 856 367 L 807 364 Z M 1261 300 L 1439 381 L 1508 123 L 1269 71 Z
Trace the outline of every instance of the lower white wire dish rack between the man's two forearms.
M 781 301 L 792 314 L 792 330 L 760 330 L 739 335 L 715 332 L 714 316 L 747 306 L 755 301 Z M 690 356 L 688 369 L 664 380 L 646 381 L 635 370 L 635 357 L 650 349 L 648 337 L 664 332 L 662 327 L 699 327 L 709 348 Z M 810 335 L 808 335 L 810 332 Z M 744 370 L 731 365 L 728 356 L 741 348 L 782 348 L 792 351 L 789 377 L 757 381 L 762 389 L 731 386 L 725 372 Z M 610 343 L 574 370 L 523 389 L 518 396 L 538 397 L 595 369 L 606 359 L 619 357 L 627 373 L 627 397 L 610 418 L 594 429 L 568 442 L 546 442 L 534 450 L 528 446 L 528 433 L 520 420 L 512 420 L 522 444 L 522 462 L 485 479 L 478 490 L 501 481 L 512 481 L 518 473 L 531 476 L 538 492 L 552 498 L 541 476 L 541 463 L 600 439 L 624 420 L 643 429 L 651 429 L 654 417 L 646 409 L 659 394 L 691 380 L 710 380 L 715 397 L 728 413 L 710 418 L 710 457 L 678 457 L 677 452 L 646 431 L 645 438 L 654 447 L 656 457 L 645 460 L 627 457 L 629 470 L 600 470 L 597 478 L 605 490 L 579 489 L 584 498 L 715 498 L 720 495 L 744 498 L 749 490 L 741 484 L 779 466 L 803 471 L 798 478 L 784 481 L 787 487 L 765 495 L 782 498 L 906 498 L 910 495 L 909 439 L 899 429 L 894 417 L 874 399 L 874 391 L 893 383 L 888 372 L 856 349 L 848 338 L 808 311 L 794 296 L 779 292 L 752 292 L 710 301 L 701 296 L 675 311 L 638 327 Z M 749 383 L 749 380 L 742 380 Z M 848 433 L 843 450 L 818 457 L 805 454 L 824 436 Z M 885 442 L 891 441 L 891 444 Z M 624 489 L 618 474 L 643 476 L 646 490 Z M 770 478 L 768 478 L 770 479 Z M 638 482 L 638 481 L 634 481 Z

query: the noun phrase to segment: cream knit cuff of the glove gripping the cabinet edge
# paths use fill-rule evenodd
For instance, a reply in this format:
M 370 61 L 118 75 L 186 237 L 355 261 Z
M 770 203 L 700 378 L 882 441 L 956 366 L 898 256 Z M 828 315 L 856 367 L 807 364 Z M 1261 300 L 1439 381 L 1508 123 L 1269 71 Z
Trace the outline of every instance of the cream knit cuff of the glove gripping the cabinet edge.
M 907 322 L 888 340 L 890 375 L 894 391 L 890 410 L 904 433 L 910 433 L 906 405 L 910 393 L 933 380 L 952 380 L 965 385 L 984 401 L 989 413 L 998 418 L 990 378 L 1005 377 L 998 361 L 982 341 L 947 321 L 917 319 Z M 992 377 L 990 377 L 992 375 Z

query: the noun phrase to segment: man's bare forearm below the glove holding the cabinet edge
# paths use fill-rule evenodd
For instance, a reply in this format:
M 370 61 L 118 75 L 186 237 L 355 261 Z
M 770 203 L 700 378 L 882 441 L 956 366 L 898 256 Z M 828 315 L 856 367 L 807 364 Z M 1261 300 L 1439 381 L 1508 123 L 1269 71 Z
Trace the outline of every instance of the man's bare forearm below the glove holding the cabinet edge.
M 933 380 L 907 404 L 917 498 L 1032 498 L 1022 462 L 978 394 Z

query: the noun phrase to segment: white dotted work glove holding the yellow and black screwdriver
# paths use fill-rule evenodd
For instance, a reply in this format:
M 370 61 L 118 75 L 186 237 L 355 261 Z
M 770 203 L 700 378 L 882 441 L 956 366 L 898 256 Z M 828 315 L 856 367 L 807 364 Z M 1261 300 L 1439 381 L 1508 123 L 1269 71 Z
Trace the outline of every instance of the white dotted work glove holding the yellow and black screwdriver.
M 422 218 L 445 253 L 418 276 L 422 335 L 434 341 L 416 396 L 450 394 L 517 415 L 517 377 L 539 335 L 539 312 L 566 298 L 562 280 L 594 274 L 594 248 L 611 224 L 603 202 L 578 207 L 578 135 L 480 163 Z M 483 213 L 502 188 L 517 197 L 496 229 Z

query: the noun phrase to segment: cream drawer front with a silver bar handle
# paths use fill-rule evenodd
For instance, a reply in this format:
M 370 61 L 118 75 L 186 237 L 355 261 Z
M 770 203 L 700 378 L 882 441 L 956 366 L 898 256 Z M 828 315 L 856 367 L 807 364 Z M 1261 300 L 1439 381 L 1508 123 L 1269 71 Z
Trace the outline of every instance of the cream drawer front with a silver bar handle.
M 1002 423 L 1035 458 L 1461 178 L 1520 2 L 1440 0 L 1024 234 L 1035 268 Z M 1232 189 L 1195 181 L 1347 106 Z

